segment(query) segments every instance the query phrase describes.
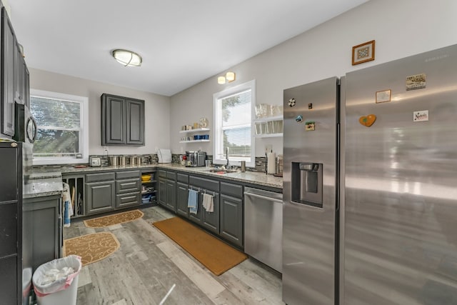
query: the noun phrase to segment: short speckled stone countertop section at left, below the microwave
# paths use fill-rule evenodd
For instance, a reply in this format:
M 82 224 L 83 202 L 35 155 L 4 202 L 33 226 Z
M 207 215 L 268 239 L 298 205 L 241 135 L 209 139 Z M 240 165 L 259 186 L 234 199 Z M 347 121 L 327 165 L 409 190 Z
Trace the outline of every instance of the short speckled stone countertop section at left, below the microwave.
M 62 194 L 62 175 L 60 171 L 34 171 L 24 180 L 23 198 L 52 196 Z

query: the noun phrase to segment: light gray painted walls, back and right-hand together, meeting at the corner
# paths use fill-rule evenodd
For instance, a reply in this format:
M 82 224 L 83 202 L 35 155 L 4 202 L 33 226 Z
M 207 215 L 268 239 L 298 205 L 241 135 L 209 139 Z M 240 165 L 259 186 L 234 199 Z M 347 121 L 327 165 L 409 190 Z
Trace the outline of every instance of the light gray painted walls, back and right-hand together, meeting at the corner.
M 209 119 L 212 129 L 214 93 L 256 79 L 257 104 L 282 104 L 283 89 L 456 44 L 456 11 L 455 0 L 371 0 L 233 66 L 229 70 L 236 72 L 236 81 L 230 84 L 217 84 L 217 76 L 226 72 L 221 71 L 171 98 L 37 69 L 30 69 L 31 88 L 89 97 L 90 154 L 104 153 L 100 145 L 102 93 L 146 101 L 146 146 L 110 146 L 109 154 L 149 154 L 156 148 L 171 148 L 176 154 L 194 149 L 213 154 L 212 141 L 180 144 L 179 131 L 201 117 Z M 352 46 L 373 39 L 376 60 L 352 66 Z M 263 156 L 268 144 L 277 154 L 282 152 L 281 138 L 256 139 L 257 156 Z

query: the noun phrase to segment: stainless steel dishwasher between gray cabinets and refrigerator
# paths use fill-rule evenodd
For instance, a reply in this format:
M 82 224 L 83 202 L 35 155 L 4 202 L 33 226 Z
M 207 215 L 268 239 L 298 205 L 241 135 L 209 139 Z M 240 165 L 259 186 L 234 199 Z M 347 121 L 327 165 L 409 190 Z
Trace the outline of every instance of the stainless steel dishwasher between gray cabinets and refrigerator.
M 283 194 L 244 188 L 244 251 L 282 272 Z

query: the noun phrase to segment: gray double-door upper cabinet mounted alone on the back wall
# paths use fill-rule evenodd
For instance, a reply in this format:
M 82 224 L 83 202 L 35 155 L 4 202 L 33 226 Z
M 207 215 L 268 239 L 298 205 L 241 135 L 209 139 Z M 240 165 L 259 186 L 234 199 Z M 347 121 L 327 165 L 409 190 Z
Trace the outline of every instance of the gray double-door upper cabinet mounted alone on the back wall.
M 101 145 L 144 146 L 144 101 L 101 95 Z

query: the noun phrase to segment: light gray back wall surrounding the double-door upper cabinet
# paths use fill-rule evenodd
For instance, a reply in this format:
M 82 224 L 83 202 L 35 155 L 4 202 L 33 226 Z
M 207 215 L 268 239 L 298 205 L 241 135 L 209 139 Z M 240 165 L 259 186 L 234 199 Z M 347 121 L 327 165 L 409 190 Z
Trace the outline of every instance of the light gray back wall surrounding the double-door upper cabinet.
M 109 154 L 151 154 L 156 148 L 168 148 L 170 98 L 88 79 L 29 69 L 30 88 L 89 97 L 89 154 L 104 154 L 101 146 L 101 94 L 144 99 L 145 146 L 108 146 Z

